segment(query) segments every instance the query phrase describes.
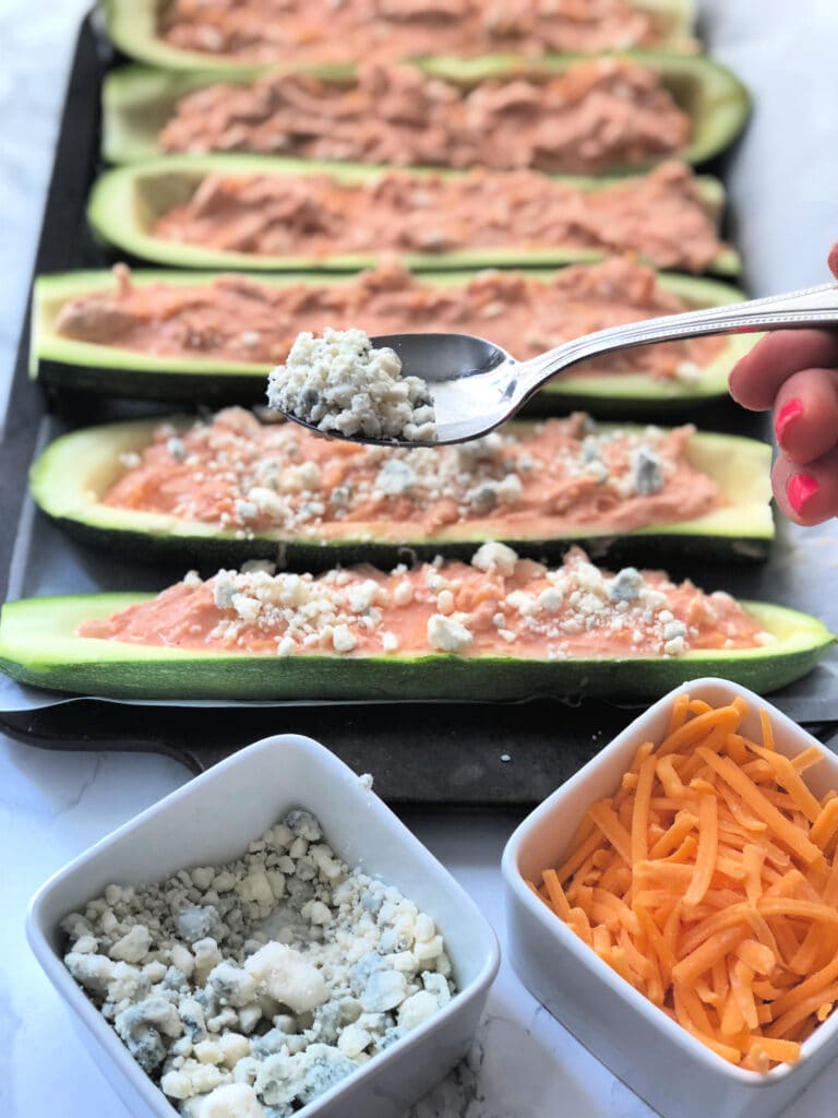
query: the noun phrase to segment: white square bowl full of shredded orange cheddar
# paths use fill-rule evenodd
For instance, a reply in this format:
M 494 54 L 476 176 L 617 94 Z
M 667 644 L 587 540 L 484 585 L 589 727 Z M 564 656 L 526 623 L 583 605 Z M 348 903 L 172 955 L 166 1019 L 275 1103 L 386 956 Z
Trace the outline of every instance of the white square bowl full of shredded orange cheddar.
M 664 1116 L 783 1112 L 838 1053 L 838 758 L 694 680 L 504 852 L 520 978 Z

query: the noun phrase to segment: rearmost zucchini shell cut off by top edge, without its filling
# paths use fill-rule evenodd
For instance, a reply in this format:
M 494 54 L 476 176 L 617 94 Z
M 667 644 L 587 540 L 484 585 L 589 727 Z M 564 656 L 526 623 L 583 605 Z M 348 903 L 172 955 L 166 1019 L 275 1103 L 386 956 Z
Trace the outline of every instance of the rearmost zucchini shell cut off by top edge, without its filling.
M 211 69 L 221 76 L 241 69 L 241 63 L 220 55 L 183 50 L 158 35 L 158 13 L 163 0 L 104 0 L 107 31 L 124 54 L 168 69 Z M 693 0 L 634 0 L 632 7 L 649 12 L 661 29 L 658 47 L 692 53 L 695 11 Z M 288 64 L 288 68 L 293 63 Z M 251 73 L 265 66 L 250 66 Z

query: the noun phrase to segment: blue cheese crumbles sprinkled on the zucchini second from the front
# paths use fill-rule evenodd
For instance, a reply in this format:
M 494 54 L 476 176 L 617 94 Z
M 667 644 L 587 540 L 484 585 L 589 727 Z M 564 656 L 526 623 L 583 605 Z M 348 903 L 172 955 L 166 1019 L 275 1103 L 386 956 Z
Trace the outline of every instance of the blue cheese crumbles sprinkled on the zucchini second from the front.
M 563 517 L 572 514 L 591 485 L 606 505 L 611 498 L 630 504 L 644 496 L 638 485 L 663 482 L 663 489 L 646 496 L 664 493 L 677 468 L 670 436 L 657 427 L 602 428 L 581 414 L 551 423 L 563 424 L 571 436 L 559 451 L 531 442 L 524 452 L 520 435 L 498 433 L 454 446 L 366 446 L 354 459 L 358 468 L 347 470 L 334 485 L 326 481 L 327 468 L 297 461 L 299 443 L 292 425 L 266 426 L 251 413 L 227 408 L 211 423 L 199 420 L 181 432 L 181 442 L 194 453 L 182 462 L 171 455 L 175 474 L 193 470 L 196 480 L 212 480 L 223 508 L 210 514 L 200 494 L 196 498 L 184 486 L 174 514 L 200 521 L 211 517 L 237 539 L 265 531 L 322 538 L 324 523 L 351 517 L 361 505 L 372 520 L 388 519 L 394 509 L 401 520 L 436 504 L 440 527 L 493 518 L 498 510 L 526 513 L 534 496 L 541 500 L 533 484 L 546 484 L 551 496 L 545 512 Z M 166 429 L 173 428 L 162 425 L 155 438 L 171 454 Z M 135 455 L 134 465 L 140 464 Z

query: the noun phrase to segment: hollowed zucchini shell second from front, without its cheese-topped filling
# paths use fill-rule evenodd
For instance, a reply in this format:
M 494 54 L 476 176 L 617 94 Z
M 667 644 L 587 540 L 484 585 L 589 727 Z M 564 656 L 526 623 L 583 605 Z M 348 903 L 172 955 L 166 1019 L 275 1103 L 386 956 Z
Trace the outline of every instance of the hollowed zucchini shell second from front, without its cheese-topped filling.
M 169 417 L 187 426 L 185 417 Z M 409 551 L 432 559 L 440 550 L 468 558 L 486 538 L 510 543 L 530 556 L 558 556 L 579 543 L 600 558 L 637 558 L 659 563 L 678 560 L 755 560 L 765 557 L 774 533 L 769 472 L 771 448 L 755 439 L 701 433 L 687 447 L 687 459 L 718 485 L 724 506 L 692 521 L 651 524 L 621 536 L 590 527 L 573 534 L 544 538 L 510 533 L 503 518 L 484 517 L 456 523 L 432 536 L 411 521 L 346 522 L 335 538 L 274 531 L 237 539 L 236 529 L 221 530 L 200 521 L 128 509 L 102 501 L 123 474 L 121 456 L 139 453 L 152 442 L 162 418 L 128 420 L 88 427 L 53 442 L 37 458 L 30 490 L 38 506 L 69 534 L 94 547 L 128 553 L 146 561 L 198 563 L 203 569 L 240 566 L 247 559 L 279 558 L 282 566 L 322 570 L 336 563 L 372 562 L 390 567 Z M 512 424 L 507 432 L 526 432 Z M 601 429 L 601 428 L 600 428 Z M 607 428 L 606 428 L 607 429 Z M 340 522 L 339 522 L 340 523 Z M 238 533 L 241 536 L 241 532 Z

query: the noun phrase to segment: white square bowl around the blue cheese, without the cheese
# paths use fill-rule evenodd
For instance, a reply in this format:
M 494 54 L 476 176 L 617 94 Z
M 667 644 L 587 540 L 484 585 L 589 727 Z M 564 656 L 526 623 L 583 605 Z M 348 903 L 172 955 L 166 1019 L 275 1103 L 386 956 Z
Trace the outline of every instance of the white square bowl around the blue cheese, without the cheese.
M 59 921 L 111 882 L 155 882 L 182 868 L 231 861 L 297 806 L 317 816 L 350 868 L 397 885 L 434 918 L 458 991 L 429 1021 L 304 1107 L 301 1118 L 396 1118 L 467 1053 L 499 961 L 492 928 L 352 769 L 311 738 L 280 735 L 242 749 L 137 815 L 50 878 L 30 903 L 32 950 L 132 1114 L 178 1116 L 65 968 Z

